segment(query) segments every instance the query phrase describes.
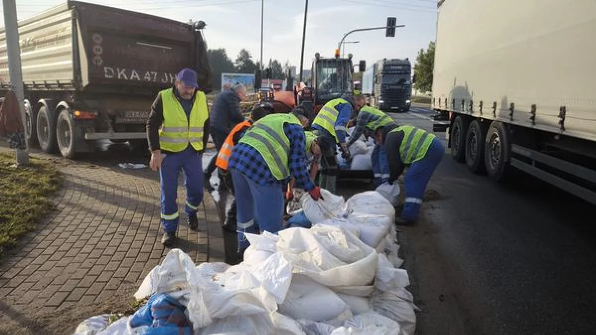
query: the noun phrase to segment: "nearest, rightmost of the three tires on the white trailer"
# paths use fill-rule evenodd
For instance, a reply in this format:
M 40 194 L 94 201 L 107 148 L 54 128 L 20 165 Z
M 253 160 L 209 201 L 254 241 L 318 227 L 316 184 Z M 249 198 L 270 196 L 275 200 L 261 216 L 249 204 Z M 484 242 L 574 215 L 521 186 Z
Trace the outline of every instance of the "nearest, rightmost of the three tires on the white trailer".
M 511 142 L 507 126 L 493 121 L 485 138 L 486 175 L 492 181 L 502 182 L 510 175 L 509 157 Z

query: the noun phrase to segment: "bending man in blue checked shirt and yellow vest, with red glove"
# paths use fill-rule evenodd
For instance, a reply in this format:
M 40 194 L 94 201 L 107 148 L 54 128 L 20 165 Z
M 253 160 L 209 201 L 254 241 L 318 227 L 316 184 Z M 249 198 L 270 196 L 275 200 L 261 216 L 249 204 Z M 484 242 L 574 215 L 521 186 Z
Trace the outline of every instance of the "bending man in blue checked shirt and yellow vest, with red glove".
M 283 227 L 284 188 L 291 177 L 314 200 L 321 197 L 308 175 L 303 129 L 308 122 L 302 108 L 271 114 L 255 122 L 232 150 L 229 170 L 238 207 L 240 255 L 249 247 L 245 232 L 277 233 Z

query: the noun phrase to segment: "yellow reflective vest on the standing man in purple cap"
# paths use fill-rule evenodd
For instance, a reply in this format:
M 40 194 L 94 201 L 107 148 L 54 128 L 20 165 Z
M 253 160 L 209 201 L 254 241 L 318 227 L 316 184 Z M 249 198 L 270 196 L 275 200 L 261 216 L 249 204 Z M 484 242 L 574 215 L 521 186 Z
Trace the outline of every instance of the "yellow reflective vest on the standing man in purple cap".
M 162 97 L 163 126 L 159 130 L 159 146 L 174 153 L 184 150 L 188 144 L 195 150 L 203 150 L 203 126 L 209 117 L 207 100 L 197 91 L 190 117 L 182 109 L 173 88 L 159 92 Z

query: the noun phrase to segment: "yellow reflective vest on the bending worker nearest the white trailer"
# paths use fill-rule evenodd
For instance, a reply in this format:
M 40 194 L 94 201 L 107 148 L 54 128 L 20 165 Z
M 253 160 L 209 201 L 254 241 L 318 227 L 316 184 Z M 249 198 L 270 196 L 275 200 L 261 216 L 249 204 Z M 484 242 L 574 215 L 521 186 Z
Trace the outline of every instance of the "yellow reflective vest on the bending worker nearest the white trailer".
M 399 145 L 399 157 L 405 165 L 423 159 L 433 139 L 436 138 L 434 134 L 414 126 L 399 126 L 390 133 L 399 131 L 403 132 L 402 143 Z

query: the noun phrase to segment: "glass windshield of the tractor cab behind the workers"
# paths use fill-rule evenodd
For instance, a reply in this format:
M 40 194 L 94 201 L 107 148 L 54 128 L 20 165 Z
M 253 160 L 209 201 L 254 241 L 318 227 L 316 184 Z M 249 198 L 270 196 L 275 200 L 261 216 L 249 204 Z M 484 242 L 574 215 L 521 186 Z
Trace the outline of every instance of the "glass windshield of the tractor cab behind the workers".
M 319 95 L 339 96 L 350 92 L 351 81 L 348 63 L 338 64 L 323 61 L 318 67 L 317 81 L 316 88 Z

